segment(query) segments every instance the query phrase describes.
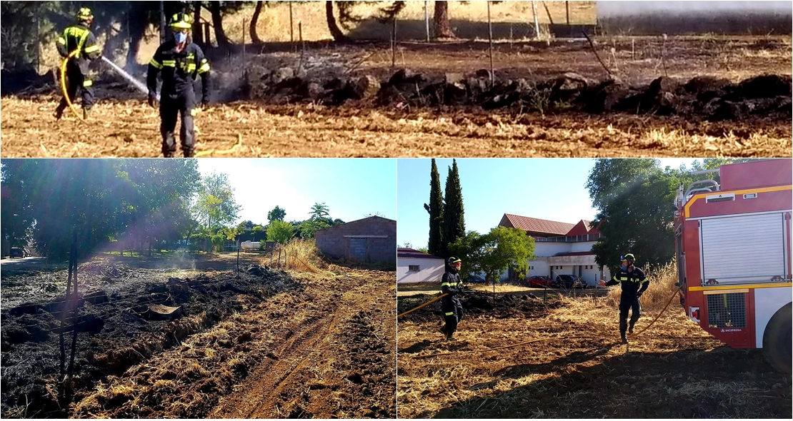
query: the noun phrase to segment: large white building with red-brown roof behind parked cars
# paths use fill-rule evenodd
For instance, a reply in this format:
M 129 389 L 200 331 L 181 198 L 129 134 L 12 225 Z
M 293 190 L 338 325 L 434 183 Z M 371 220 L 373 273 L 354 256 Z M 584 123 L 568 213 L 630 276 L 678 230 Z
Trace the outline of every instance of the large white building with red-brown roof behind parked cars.
M 578 275 L 590 286 L 600 279 L 611 279 L 607 267 L 601 270 L 595 263 L 592 245 L 600 239 L 600 231 L 592 222 L 580 220 L 576 224 L 504 214 L 499 226 L 519 228 L 534 238 L 534 260 L 529 261 L 527 276 Z M 502 279 L 511 278 L 508 272 Z

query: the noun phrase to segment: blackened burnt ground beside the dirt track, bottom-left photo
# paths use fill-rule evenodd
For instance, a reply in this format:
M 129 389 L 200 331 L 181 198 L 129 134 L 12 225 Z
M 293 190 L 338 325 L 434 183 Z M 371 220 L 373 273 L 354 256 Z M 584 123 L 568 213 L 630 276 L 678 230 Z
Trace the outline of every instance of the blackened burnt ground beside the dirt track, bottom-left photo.
M 34 279 L 35 276 L 31 280 Z M 288 276 L 275 272 L 262 277 L 243 274 L 240 279 L 223 273 L 213 277 L 202 274 L 194 279 L 170 278 L 167 283 L 126 280 L 128 285 L 124 288 L 113 288 L 114 292 L 104 295 L 105 302 L 100 305 L 87 302 L 80 310 L 81 318 L 90 323 L 84 327 L 77 325 L 80 334 L 76 375 L 66 384 L 67 401 L 82 399 L 96 381 L 107 381 L 153 355 L 177 347 L 187 337 L 215 326 L 232 313 L 265 301 L 279 291 L 301 289 Z M 57 335 L 52 330 L 58 318 L 48 309 L 52 310 L 52 304 L 57 302 L 56 298 L 12 309 L 4 305 L 4 417 L 73 415 L 67 402 L 59 402 L 62 398 L 53 393 L 58 386 L 59 351 Z M 145 320 L 139 312 L 150 303 L 180 306 L 184 317 L 173 321 Z M 67 332 L 66 336 L 70 338 L 71 333 Z M 39 411 L 33 415 L 25 412 L 25 408 L 39 408 Z

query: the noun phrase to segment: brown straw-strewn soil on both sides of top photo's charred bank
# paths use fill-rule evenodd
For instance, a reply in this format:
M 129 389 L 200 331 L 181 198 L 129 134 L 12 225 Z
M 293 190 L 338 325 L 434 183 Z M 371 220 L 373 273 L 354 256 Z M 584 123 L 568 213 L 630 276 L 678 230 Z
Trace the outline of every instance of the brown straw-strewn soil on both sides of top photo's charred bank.
M 657 37 L 598 40 L 615 76 L 629 84 L 668 74 L 738 82 L 757 74 L 790 74 L 790 37 Z M 271 46 L 268 54 L 217 59 L 213 94 L 222 104 L 197 116 L 197 151 L 216 157 L 789 157 L 789 119 L 753 116 L 711 122 L 691 116 L 630 113 L 485 111 L 481 107 L 374 107 L 370 101 L 341 106 L 272 104 L 273 98 L 230 102 L 242 69 L 251 74 L 307 63 L 324 78 L 363 74 L 387 80 L 391 55 L 383 44 L 312 44 L 300 53 Z M 613 53 L 611 52 L 613 49 Z M 661 51 L 664 61 L 661 61 Z M 488 67 L 486 43 L 404 43 L 397 67 L 427 78 Z M 602 79 L 605 71 L 585 41 L 496 45 L 498 78 L 541 80 L 573 71 Z M 263 69 L 263 70 L 262 70 Z M 257 70 L 257 71 L 255 71 Z M 262 71 L 259 71 L 262 70 Z M 98 78 L 98 105 L 86 123 L 52 117 L 56 86 L 3 97 L 3 157 L 159 157 L 159 116 L 144 94 L 127 89 L 109 70 Z M 313 76 L 311 76 L 313 77 Z M 318 76 L 319 77 L 319 76 Z M 105 82 L 102 78 L 106 78 Z M 258 79 L 257 79 L 258 80 Z M 256 80 L 249 88 L 258 89 Z M 135 98 L 134 100 L 131 98 Z M 283 98 L 282 98 L 283 99 Z

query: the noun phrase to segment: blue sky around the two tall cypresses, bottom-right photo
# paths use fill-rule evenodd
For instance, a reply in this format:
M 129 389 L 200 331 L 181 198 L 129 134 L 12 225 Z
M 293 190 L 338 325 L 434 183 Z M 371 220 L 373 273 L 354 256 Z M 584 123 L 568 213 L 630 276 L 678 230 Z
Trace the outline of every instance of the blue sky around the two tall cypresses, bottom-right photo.
M 662 158 L 661 167 L 691 167 L 694 159 Z M 451 159 L 436 159 L 441 188 Z M 506 214 L 574 224 L 591 220 L 589 192 L 584 188 L 595 165 L 588 158 L 462 158 L 457 160 L 465 210 L 465 230 L 487 233 Z M 397 243 L 426 247 L 430 198 L 429 159 L 397 160 Z

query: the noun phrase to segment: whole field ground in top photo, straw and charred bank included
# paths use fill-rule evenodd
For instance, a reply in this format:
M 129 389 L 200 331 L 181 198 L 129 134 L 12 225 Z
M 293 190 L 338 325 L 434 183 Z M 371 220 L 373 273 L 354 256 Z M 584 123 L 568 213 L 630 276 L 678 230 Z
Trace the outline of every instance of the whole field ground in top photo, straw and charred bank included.
M 419 3 L 404 15 L 406 37 L 408 23 L 423 18 Z M 453 19 L 481 24 L 481 2 L 458 3 Z M 557 3 L 550 13 L 562 21 Z M 573 4 L 571 21 L 592 23 L 593 2 Z M 392 51 L 374 35 L 388 25 L 369 19 L 350 32 L 366 41 L 334 44 L 320 5 L 306 2 L 293 6 L 308 41 L 301 50 L 285 41 L 288 8 L 268 7 L 259 22 L 265 44 L 249 45 L 244 57 L 239 48 L 212 55 L 213 104 L 197 116 L 197 150 L 210 157 L 791 155 L 790 36 L 598 36 L 602 66 L 586 40 L 515 35 L 526 7 L 493 6 L 494 84 L 488 44 L 463 26 L 460 39 L 427 44 L 419 22 L 418 40 L 405 38 Z M 251 13 L 228 17 L 232 40 L 241 41 Z M 544 10 L 539 17 L 546 21 Z M 511 40 L 504 28 L 513 29 Z M 53 119 L 52 78 L 3 97 L 2 155 L 159 156 L 157 111 L 109 69 L 96 71 L 99 101 L 87 122 Z M 133 74 L 142 80 L 144 67 Z M 763 74 L 772 82 L 753 84 Z

